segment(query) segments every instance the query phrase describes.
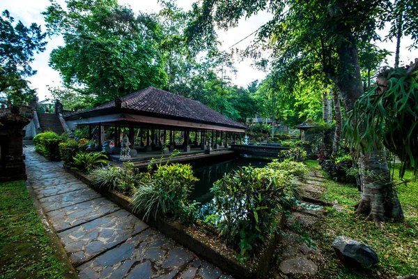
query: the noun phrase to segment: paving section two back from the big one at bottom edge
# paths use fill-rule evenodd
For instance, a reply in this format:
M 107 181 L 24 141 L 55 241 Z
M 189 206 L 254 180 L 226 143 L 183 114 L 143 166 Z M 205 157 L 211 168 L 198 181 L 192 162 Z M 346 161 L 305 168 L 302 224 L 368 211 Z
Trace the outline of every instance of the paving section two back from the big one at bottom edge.
M 109 213 L 119 210 L 120 208 L 113 202 L 100 197 L 81 204 L 49 211 L 47 216 L 52 223 L 56 232 L 62 232 L 77 225 L 81 225 L 88 221 L 105 216 Z

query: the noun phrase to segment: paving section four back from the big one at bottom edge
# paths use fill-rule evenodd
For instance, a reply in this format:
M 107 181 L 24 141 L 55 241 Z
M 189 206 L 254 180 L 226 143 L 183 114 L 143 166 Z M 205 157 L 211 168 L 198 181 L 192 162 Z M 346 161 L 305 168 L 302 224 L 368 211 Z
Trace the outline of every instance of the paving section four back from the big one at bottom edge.
M 54 195 L 61 195 L 64 193 L 69 193 L 75 190 L 82 190 L 86 188 L 86 184 L 82 183 L 79 180 L 75 181 L 65 181 L 63 183 L 56 183 L 55 179 L 48 179 L 49 183 L 45 187 L 40 187 L 40 183 L 44 183 L 45 180 L 39 181 L 39 183 L 36 183 L 36 186 L 38 188 L 33 187 L 33 190 L 35 191 L 36 195 L 38 196 L 38 199 L 42 199 L 43 197 L 51 197 Z

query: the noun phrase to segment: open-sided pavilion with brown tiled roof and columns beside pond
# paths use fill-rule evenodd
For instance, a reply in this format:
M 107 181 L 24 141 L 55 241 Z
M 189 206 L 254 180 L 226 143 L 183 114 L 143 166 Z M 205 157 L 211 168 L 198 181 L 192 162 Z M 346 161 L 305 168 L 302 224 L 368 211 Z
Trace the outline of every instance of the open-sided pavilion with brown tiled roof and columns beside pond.
M 191 147 L 203 150 L 206 144 L 213 149 L 227 147 L 228 142 L 241 139 L 247 128 L 199 101 L 153 86 L 90 110 L 65 112 L 64 117 L 69 128 L 88 126 L 90 137 L 93 130 L 98 131 L 100 148 L 104 140 L 111 140 L 114 153 L 120 150 L 122 135 L 127 135 L 132 157 L 137 151 L 161 149 L 165 142 L 171 151 L 179 144 L 186 152 Z

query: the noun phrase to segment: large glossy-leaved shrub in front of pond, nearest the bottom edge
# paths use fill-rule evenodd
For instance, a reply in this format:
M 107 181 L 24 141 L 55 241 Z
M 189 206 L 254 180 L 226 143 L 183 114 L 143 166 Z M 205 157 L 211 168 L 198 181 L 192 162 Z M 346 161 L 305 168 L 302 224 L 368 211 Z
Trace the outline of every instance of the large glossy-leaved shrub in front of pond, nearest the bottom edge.
M 274 169 L 242 167 L 214 183 L 214 214 L 206 218 L 245 262 L 263 241 L 279 232 L 278 216 L 295 202 L 291 175 Z

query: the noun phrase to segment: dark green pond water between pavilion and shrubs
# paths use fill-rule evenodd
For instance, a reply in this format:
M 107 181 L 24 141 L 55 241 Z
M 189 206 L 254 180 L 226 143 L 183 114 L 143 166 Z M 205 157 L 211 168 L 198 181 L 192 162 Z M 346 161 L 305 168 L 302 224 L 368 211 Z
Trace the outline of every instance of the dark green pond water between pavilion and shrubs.
M 194 165 L 194 176 L 196 176 L 199 181 L 195 183 L 194 190 L 190 193 L 189 199 L 201 202 L 201 204 L 210 202 L 213 197 L 210 188 L 212 188 L 213 183 L 218 179 L 221 179 L 224 174 L 228 174 L 235 169 L 240 169 L 240 167 L 248 166 L 250 164 L 254 167 L 264 167 L 269 162 L 271 162 L 271 160 L 237 157 L 222 162 L 208 163 L 206 165 Z

